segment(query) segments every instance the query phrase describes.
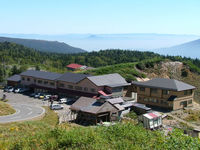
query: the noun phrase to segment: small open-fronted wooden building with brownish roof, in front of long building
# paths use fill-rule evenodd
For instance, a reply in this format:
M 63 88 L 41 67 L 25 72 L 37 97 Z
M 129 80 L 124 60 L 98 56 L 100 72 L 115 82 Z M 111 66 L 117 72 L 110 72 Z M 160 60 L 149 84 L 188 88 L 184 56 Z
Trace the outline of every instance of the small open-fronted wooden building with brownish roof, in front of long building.
M 80 97 L 71 107 L 71 111 L 77 113 L 76 122 L 80 124 L 97 124 L 100 122 L 119 120 L 125 109 L 119 103 L 121 98 L 105 100 L 88 97 Z M 116 101 L 117 103 L 113 102 Z

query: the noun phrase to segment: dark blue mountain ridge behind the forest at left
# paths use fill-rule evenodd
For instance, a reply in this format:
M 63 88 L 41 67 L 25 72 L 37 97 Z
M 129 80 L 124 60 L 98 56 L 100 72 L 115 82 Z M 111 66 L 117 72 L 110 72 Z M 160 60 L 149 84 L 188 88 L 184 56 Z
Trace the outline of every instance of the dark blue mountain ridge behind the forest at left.
M 83 53 L 86 52 L 83 49 L 72 47 L 64 42 L 57 41 L 45 41 L 45 40 L 33 40 L 33 39 L 20 39 L 20 38 L 8 38 L 0 37 L 0 42 L 12 42 L 24 45 L 29 48 L 33 48 L 43 52 L 56 52 L 56 53 Z

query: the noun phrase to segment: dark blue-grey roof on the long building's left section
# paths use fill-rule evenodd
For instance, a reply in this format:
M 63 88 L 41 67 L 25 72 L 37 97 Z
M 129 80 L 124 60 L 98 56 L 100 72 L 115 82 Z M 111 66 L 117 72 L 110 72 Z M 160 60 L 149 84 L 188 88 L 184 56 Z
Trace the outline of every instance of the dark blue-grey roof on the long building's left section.
M 25 72 L 22 72 L 20 75 L 34 77 L 34 78 L 40 78 L 40 79 L 46 79 L 46 80 L 56 80 L 62 74 L 54 73 L 54 72 L 45 72 L 45 71 L 37 71 L 37 70 L 27 70 Z

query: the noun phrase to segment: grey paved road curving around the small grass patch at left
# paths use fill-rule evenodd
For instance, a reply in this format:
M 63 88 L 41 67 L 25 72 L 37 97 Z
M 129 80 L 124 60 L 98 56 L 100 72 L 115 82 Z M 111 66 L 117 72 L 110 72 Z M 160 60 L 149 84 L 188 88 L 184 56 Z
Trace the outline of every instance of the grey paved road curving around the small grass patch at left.
M 43 103 L 41 100 L 30 98 L 22 94 L 5 93 L 6 99 L 15 110 L 16 113 L 7 116 L 0 116 L 0 123 L 9 123 L 30 120 L 41 116 L 45 110 L 42 106 L 47 105 L 47 102 Z M 0 90 L 0 98 L 3 95 L 3 91 Z

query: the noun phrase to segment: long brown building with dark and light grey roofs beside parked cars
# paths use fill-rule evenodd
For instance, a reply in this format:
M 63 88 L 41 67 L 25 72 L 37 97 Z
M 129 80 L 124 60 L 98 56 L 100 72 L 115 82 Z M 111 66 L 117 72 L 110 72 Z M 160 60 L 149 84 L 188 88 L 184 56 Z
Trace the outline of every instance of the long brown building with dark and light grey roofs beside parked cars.
M 21 84 L 35 92 L 53 92 L 62 96 L 87 96 L 99 94 L 123 96 L 123 89 L 129 84 L 117 73 L 90 76 L 66 72 L 64 74 L 27 70 L 20 74 Z

